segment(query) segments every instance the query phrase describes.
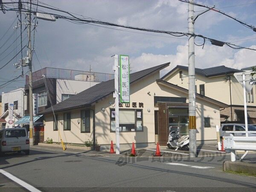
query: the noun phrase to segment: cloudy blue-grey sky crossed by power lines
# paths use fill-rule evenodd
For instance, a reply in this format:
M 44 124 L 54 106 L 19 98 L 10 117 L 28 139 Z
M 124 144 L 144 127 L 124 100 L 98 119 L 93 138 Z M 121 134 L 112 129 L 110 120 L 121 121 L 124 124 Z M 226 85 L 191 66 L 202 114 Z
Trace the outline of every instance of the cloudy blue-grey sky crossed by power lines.
M 13 1 L 17 2 L 17 0 Z M 9 0 L 3 0 L 3 2 L 9 2 Z M 207 6 L 215 5 L 215 8 L 256 26 L 256 0 L 197 0 L 195 2 Z M 188 4 L 178 0 L 40 0 L 39 3 L 111 23 L 188 32 Z M 194 9 L 195 15 L 206 10 L 198 6 Z M 38 10 L 64 14 L 42 8 Z M 22 15 L 23 19 L 25 15 Z M 13 28 L 17 26 L 17 21 L 16 12 L 6 11 L 6 14 L 3 14 L 0 11 L 0 67 L 20 51 L 20 38 L 17 38 L 20 28 L 16 30 Z M 34 54 L 32 70 L 55 67 L 89 71 L 91 66 L 93 72 L 113 73 L 111 55 L 114 54 L 129 55 L 131 73 L 170 62 L 170 66 L 161 71 L 163 76 L 176 65 L 188 66 L 186 36 L 176 38 L 167 34 L 105 27 L 90 23 L 74 24 L 63 19 L 57 19 L 54 22 L 38 19 L 34 50 L 39 62 Z M 195 21 L 195 33 L 256 49 L 256 32 L 218 12 L 208 11 L 199 16 Z M 24 32 L 23 45 L 27 42 L 26 32 Z M 196 44 L 202 44 L 202 42 L 201 38 L 195 39 Z M 25 49 L 24 55 L 26 55 Z M 0 85 L 21 74 L 21 68 L 16 69 L 13 65 L 20 58 L 19 54 L 0 70 Z M 209 41 L 205 43 L 203 49 L 195 46 L 195 67 L 208 68 L 220 65 L 235 69 L 254 66 L 256 51 L 232 49 L 227 46 L 217 47 L 211 45 Z M 24 73 L 28 70 L 28 67 L 24 67 Z M 24 87 L 24 78 L 0 86 L 0 93 L 19 87 Z

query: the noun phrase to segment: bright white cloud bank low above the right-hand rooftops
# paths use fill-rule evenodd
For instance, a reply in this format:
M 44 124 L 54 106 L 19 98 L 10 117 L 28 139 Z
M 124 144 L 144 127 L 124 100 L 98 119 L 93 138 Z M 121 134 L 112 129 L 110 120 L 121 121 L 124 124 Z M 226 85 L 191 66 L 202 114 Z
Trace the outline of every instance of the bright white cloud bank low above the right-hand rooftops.
M 256 49 L 256 45 L 251 46 L 250 48 Z M 196 47 L 195 55 L 195 67 L 197 68 L 225 65 L 226 67 L 241 69 L 255 65 L 256 61 L 256 53 L 253 50 L 241 49 L 239 51 L 235 51 L 230 47 L 216 47 L 208 44 L 204 46 L 204 49 Z M 174 55 L 154 55 L 152 53 L 142 53 L 136 58 L 131 58 L 133 72 L 167 62 L 171 62 L 171 64 L 169 67 L 163 70 L 163 73 L 169 72 L 176 65 L 187 66 L 187 45 L 178 46 L 177 53 Z

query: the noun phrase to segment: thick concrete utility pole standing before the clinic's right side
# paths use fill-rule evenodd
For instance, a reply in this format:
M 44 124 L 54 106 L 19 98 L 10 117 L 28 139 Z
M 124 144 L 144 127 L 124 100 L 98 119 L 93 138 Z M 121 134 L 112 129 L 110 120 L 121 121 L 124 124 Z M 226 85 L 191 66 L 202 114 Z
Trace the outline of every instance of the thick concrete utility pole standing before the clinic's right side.
M 194 0 L 189 0 L 189 156 L 196 157 Z

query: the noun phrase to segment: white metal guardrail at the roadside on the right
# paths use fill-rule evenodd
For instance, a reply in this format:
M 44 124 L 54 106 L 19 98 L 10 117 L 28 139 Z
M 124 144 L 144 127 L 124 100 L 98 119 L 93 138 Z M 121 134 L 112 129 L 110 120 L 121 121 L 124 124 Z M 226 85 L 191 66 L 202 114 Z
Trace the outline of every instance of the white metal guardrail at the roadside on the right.
M 236 161 L 236 150 L 256 151 L 256 136 L 255 137 L 236 137 L 233 134 L 256 134 L 256 131 L 226 131 L 229 137 L 223 137 L 224 149 L 231 152 L 231 161 Z

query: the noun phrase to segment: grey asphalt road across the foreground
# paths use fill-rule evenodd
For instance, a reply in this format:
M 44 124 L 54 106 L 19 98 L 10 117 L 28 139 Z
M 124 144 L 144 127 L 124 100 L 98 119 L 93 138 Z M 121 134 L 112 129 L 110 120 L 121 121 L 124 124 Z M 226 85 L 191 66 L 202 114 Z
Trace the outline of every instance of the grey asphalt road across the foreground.
M 0 157 L 0 169 L 41 191 L 256 191 L 256 177 L 222 172 L 225 160 L 230 156 L 118 157 L 34 147 L 30 155 Z M 2 178 L 0 191 L 24 190 Z

